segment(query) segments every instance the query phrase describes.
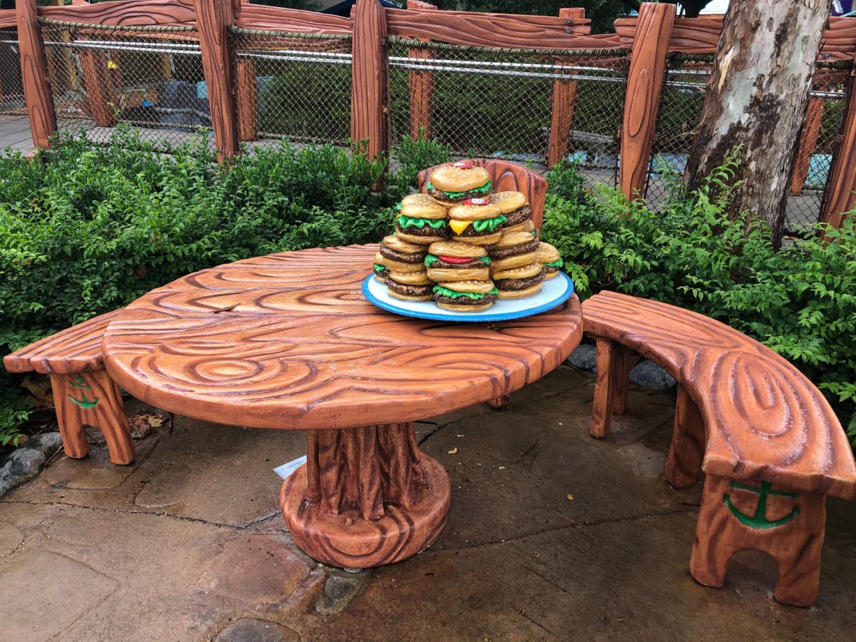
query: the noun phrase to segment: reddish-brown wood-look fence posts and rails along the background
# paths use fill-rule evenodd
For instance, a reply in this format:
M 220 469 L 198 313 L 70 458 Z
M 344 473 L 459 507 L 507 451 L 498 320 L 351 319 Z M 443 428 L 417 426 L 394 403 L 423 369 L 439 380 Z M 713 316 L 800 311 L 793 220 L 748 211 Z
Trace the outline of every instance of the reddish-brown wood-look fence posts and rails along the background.
M 253 51 L 260 59 L 277 56 L 282 59 L 281 52 L 273 56 L 265 51 L 277 47 L 282 50 L 282 42 L 287 42 L 289 55 L 301 60 L 346 65 L 351 86 L 350 138 L 366 141 L 366 151 L 370 154 L 389 150 L 388 86 L 390 70 L 396 65 L 407 68 L 410 134 L 416 135 L 421 129 L 430 136 L 436 116 L 432 109 L 435 83 L 438 69 L 442 69 L 433 64 L 442 61 L 434 60 L 431 47 L 445 47 L 447 51 L 466 47 L 485 56 L 517 51 L 549 58 L 550 65 L 526 68 L 546 68 L 538 72 L 542 78 L 545 74 L 556 76 L 556 80 L 550 80 L 552 75 L 546 75 L 552 84 L 550 104 L 544 107 L 550 110 L 545 154 L 550 164 L 568 156 L 579 85 L 589 80 L 586 75 L 571 72 L 578 68 L 574 67 L 575 56 L 597 52 L 602 58 L 624 61 L 621 73 L 625 76 L 620 79 L 625 83 L 623 113 L 617 133 L 621 160 L 617 163 L 616 158 L 616 164 L 618 184 L 628 198 L 645 192 L 651 173 L 652 149 L 657 152 L 658 108 L 669 61 L 674 56 L 716 53 L 722 30 L 720 19 L 675 18 L 675 5 L 665 3 L 643 3 L 639 17 L 615 21 L 615 33 L 609 34 L 592 34 L 583 9 L 561 9 L 558 16 L 484 14 L 438 11 L 419 0 L 409 0 L 407 10 L 383 9 L 376 0 L 358 0 L 348 18 L 240 0 L 136 0 L 39 8 L 35 0 L 18 0 L 14 22 L 12 15 L 9 11 L 0 12 L 0 28 L 17 27 L 27 113 L 33 141 L 42 147 L 49 145 L 49 138 L 56 131 L 51 74 L 43 39 L 45 29 L 51 27 L 84 32 L 88 28 L 92 33 L 116 28 L 129 38 L 134 33 L 143 37 L 146 29 L 155 28 L 162 39 L 171 37 L 170 29 L 183 28 L 181 38 L 198 42 L 201 51 L 211 129 L 221 158 L 238 153 L 241 140 L 252 140 L 259 131 L 258 72 L 253 66 L 253 56 L 241 49 L 250 46 L 246 42 L 251 36 L 255 38 Z M 309 47 L 306 42 L 312 39 L 336 40 L 339 45 L 337 49 Z M 395 44 L 409 46 L 403 62 L 390 62 L 389 48 Z M 843 87 L 841 93 L 847 97 L 820 216 L 834 225 L 841 223 L 843 213 L 852 209 L 856 200 L 853 74 L 849 69 L 835 70 L 835 64 L 852 68 L 854 59 L 856 19 L 830 18 L 821 48 L 820 62 L 829 67 L 823 72 L 826 74 L 823 80 L 827 86 Z M 476 69 L 479 72 L 493 63 L 473 64 L 481 65 Z M 105 86 L 98 74 L 83 71 L 82 81 L 90 102 L 93 99 L 104 102 L 104 109 L 98 110 L 94 105 L 92 112 L 102 114 L 109 125 L 107 106 L 113 89 L 110 83 Z M 503 73 L 524 75 L 514 71 Z M 822 102 L 812 100 L 794 169 L 794 190 L 799 191 L 805 182 L 805 159 L 811 158 L 817 146 L 822 114 Z

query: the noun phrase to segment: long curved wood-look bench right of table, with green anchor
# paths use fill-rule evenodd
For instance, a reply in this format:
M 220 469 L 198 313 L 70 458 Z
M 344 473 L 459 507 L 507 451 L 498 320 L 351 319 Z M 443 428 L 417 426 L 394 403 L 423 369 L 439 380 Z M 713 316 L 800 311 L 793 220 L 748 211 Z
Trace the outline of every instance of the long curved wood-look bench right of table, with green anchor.
M 630 350 L 680 383 L 665 477 L 706 473 L 690 572 L 722 587 L 728 561 L 760 550 L 778 563 L 776 600 L 817 598 L 826 495 L 856 497 L 856 463 L 829 403 L 770 348 L 714 319 L 657 301 L 602 292 L 583 303 L 597 338 L 590 433 L 607 437 L 623 412 Z

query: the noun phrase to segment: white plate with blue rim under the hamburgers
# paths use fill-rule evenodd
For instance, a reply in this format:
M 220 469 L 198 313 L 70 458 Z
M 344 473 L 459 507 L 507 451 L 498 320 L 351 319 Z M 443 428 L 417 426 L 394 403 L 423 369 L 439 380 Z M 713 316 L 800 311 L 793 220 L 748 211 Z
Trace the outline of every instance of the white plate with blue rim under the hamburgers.
M 363 295 L 375 306 L 395 312 L 405 317 L 428 318 L 433 321 L 470 321 L 485 323 L 488 321 L 508 321 L 513 318 L 531 317 L 539 312 L 547 312 L 574 294 L 574 282 L 564 272 L 544 281 L 544 287 L 534 296 L 525 299 L 497 299 L 496 303 L 483 312 L 463 314 L 449 312 L 438 307 L 434 301 L 402 301 L 389 296 L 383 283 L 373 276 L 367 276 L 363 282 Z

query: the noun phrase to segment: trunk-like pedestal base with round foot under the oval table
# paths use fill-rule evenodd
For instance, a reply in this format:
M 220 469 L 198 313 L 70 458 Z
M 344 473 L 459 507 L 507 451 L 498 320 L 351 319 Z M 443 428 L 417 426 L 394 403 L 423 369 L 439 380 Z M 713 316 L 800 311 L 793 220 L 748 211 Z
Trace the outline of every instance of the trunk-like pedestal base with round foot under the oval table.
M 449 514 L 449 476 L 419 452 L 413 424 L 308 431 L 306 466 L 279 503 L 294 543 L 318 562 L 371 568 L 430 546 Z

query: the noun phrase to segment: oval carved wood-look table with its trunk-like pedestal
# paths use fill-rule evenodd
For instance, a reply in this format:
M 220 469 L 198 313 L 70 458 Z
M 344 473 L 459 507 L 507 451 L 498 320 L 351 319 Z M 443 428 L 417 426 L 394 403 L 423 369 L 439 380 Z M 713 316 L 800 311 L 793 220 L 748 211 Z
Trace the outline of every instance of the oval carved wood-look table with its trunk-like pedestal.
M 360 293 L 377 246 L 247 259 L 185 276 L 120 312 L 110 376 L 139 399 L 220 424 L 308 429 L 280 505 L 301 550 L 344 568 L 429 546 L 449 477 L 413 420 L 507 395 L 550 372 L 582 334 L 574 296 L 500 324 L 383 312 Z

